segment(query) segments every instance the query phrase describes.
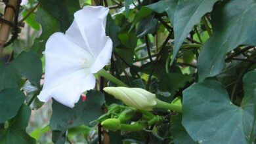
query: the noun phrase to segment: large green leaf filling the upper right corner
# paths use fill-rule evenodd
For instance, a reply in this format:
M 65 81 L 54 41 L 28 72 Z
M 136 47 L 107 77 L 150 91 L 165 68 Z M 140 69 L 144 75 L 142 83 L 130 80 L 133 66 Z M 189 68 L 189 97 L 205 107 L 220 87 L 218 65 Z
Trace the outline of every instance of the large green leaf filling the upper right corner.
M 203 45 L 198 58 L 200 81 L 224 68 L 227 52 L 239 45 L 256 45 L 256 1 L 232 0 L 213 10 L 213 36 Z

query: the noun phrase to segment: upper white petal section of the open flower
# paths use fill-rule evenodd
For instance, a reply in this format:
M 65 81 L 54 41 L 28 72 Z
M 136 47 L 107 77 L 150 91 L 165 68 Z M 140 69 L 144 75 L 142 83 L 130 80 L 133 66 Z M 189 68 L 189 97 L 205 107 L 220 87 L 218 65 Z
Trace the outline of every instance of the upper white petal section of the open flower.
M 70 31 L 72 30 L 74 35 L 75 33 L 81 33 L 81 36 L 84 39 L 84 43 L 82 45 L 84 45 L 85 48 L 89 47 L 89 52 L 91 52 L 95 58 L 98 56 L 106 43 L 105 27 L 108 11 L 109 9 L 101 6 L 86 6 L 82 10 L 75 12 L 74 22 L 77 26 L 75 26 L 75 24 L 72 25 L 66 32 L 68 35 L 71 35 L 70 33 L 72 32 Z M 77 32 L 77 28 L 80 32 Z M 73 39 L 75 39 L 75 36 Z M 77 41 L 77 39 L 75 41 Z M 80 40 L 79 43 L 81 43 Z

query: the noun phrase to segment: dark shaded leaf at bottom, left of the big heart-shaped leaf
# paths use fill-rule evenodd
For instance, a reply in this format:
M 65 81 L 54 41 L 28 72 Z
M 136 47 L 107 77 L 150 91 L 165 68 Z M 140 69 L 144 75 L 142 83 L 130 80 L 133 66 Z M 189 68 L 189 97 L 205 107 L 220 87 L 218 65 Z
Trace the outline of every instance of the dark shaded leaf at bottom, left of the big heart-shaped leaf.
M 182 143 L 182 144 L 193 144 L 196 143 L 193 141 L 193 139 L 188 135 L 188 132 L 186 132 L 185 128 L 181 124 L 182 115 L 174 115 L 171 116 L 171 134 L 173 134 L 174 137 L 174 143 Z

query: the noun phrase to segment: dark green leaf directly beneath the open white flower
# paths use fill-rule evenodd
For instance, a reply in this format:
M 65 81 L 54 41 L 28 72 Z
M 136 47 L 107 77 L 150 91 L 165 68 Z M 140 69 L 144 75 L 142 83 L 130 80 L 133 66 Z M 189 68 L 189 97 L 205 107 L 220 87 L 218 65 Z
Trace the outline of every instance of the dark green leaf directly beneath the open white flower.
M 90 90 L 87 92 L 85 101 L 79 100 L 73 109 L 53 101 L 53 115 L 50 121 L 51 130 L 65 132 L 68 128 L 79 126 L 80 124 L 89 125 L 102 115 L 102 105 L 104 94 L 99 91 Z

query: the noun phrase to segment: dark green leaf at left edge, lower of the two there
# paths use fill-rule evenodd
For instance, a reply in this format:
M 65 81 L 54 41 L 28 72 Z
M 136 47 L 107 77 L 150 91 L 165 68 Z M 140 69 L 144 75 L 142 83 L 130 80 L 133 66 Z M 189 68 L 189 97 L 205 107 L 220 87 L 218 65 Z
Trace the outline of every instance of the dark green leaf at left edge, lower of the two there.
M 16 88 L 0 91 L 0 124 L 14 117 L 25 100 L 25 96 Z

